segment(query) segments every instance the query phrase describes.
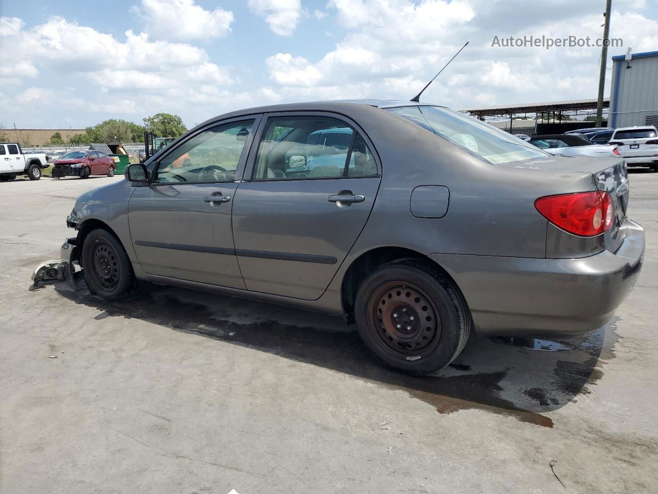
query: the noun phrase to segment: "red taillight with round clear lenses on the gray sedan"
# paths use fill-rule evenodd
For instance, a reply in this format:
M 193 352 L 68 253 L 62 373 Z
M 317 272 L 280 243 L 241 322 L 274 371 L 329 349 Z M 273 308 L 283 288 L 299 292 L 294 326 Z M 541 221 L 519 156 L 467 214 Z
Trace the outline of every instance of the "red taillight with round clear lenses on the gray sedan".
M 535 207 L 553 225 L 578 236 L 600 235 L 615 217 L 610 195 L 601 191 L 542 197 Z

